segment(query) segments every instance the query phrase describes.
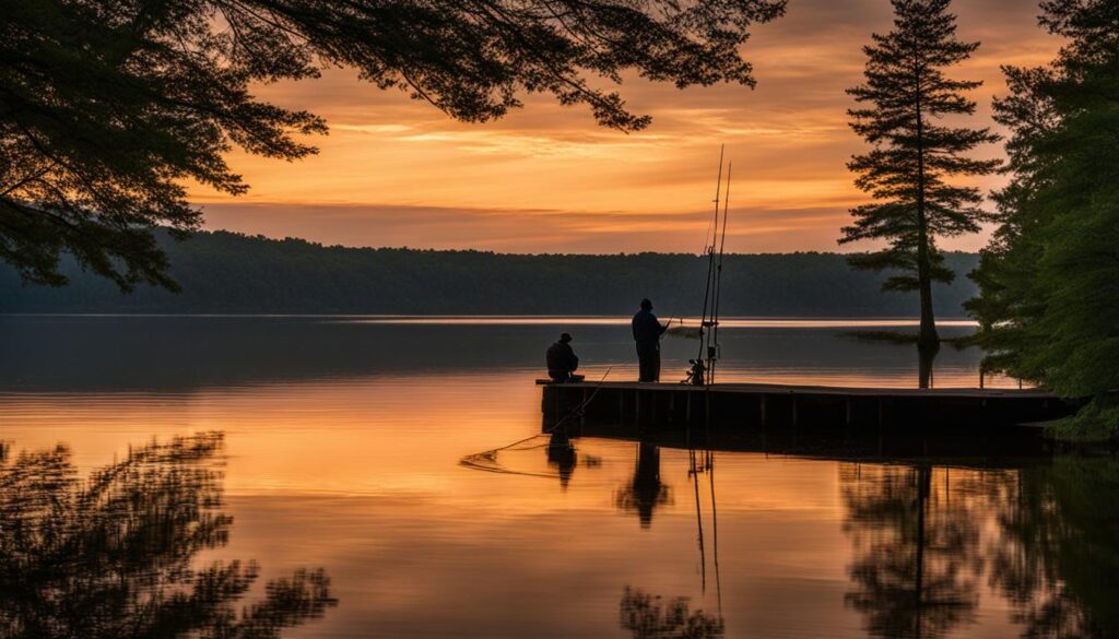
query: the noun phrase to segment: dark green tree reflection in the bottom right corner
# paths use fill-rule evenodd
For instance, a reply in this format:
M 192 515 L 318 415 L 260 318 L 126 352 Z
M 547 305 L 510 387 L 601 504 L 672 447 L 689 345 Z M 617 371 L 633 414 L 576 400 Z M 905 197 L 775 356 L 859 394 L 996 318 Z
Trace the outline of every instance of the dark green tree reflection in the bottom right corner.
M 1006 489 L 990 579 L 1023 636 L 1119 636 L 1119 461 L 1060 457 Z

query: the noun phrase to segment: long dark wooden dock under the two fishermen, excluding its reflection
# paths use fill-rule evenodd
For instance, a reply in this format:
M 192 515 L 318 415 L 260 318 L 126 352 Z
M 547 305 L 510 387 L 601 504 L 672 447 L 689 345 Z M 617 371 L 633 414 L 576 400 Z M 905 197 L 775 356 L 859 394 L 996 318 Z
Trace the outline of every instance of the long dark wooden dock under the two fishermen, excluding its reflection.
M 561 420 L 652 430 L 709 427 L 718 434 L 791 432 L 1006 431 L 1069 415 L 1041 389 L 843 388 L 774 384 L 628 382 L 544 384 L 544 426 Z M 574 414 L 573 414 L 574 413 Z M 1027 429 L 1031 433 L 1037 429 Z

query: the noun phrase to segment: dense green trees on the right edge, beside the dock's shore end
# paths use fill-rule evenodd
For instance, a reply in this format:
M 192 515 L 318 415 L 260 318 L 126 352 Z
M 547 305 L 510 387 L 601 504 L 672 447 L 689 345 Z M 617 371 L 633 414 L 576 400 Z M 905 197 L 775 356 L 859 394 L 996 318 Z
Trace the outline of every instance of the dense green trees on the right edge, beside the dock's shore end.
M 1060 429 L 1119 433 L 1119 11 L 1110 0 L 1043 3 L 1066 44 L 1050 65 L 1005 67 L 995 102 L 1010 184 L 971 278 L 986 366 L 1091 398 Z

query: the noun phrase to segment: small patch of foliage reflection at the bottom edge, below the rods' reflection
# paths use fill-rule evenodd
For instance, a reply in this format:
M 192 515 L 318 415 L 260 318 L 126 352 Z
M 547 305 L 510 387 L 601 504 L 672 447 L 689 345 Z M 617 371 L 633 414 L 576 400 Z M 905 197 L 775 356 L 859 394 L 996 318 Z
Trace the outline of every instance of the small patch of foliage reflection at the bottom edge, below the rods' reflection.
M 716 639 L 726 632 L 722 618 L 692 612 L 685 596 L 664 601 L 630 586 L 622 593 L 619 621 L 634 639 Z

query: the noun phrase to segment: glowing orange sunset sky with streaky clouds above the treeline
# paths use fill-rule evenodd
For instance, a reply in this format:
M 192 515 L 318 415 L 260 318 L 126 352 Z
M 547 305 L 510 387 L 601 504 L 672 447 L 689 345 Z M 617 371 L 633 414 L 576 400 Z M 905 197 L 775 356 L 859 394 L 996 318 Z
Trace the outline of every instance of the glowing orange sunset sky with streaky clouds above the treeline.
M 982 79 L 970 119 L 994 125 L 999 65 L 1043 64 L 1059 41 L 1037 27 L 1036 0 L 956 0 L 958 35 L 979 40 L 950 73 Z M 758 86 L 677 90 L 631 77 L 619 91 L 653 118 L 637 133 L 596 125 L 547 95 L 490 123 L 461 123 L 351 69 L 255 87 L 327 119 L 319 153 L 283 162 L 233 152 L 251 185 L 236 198 L 191 187 L 207 228 L 346 246 L 510 253 L 698 253 L 721 144 L 733 161 L 726 248 L 737 253 L 859 251 L 838 246 L 847 210 L 866 201 L 846 162 L 866 147 L 847 125 L 845 90 L 862 82 L 863 45 L 892 26 L 886 0 L 789 0 L 743 47 Z M 1002 157 L 989 145 L 977 157 Z M 985 189 L 999 176 L 967 180 Z M 941 243 L 977 250 L 986 233 Z

